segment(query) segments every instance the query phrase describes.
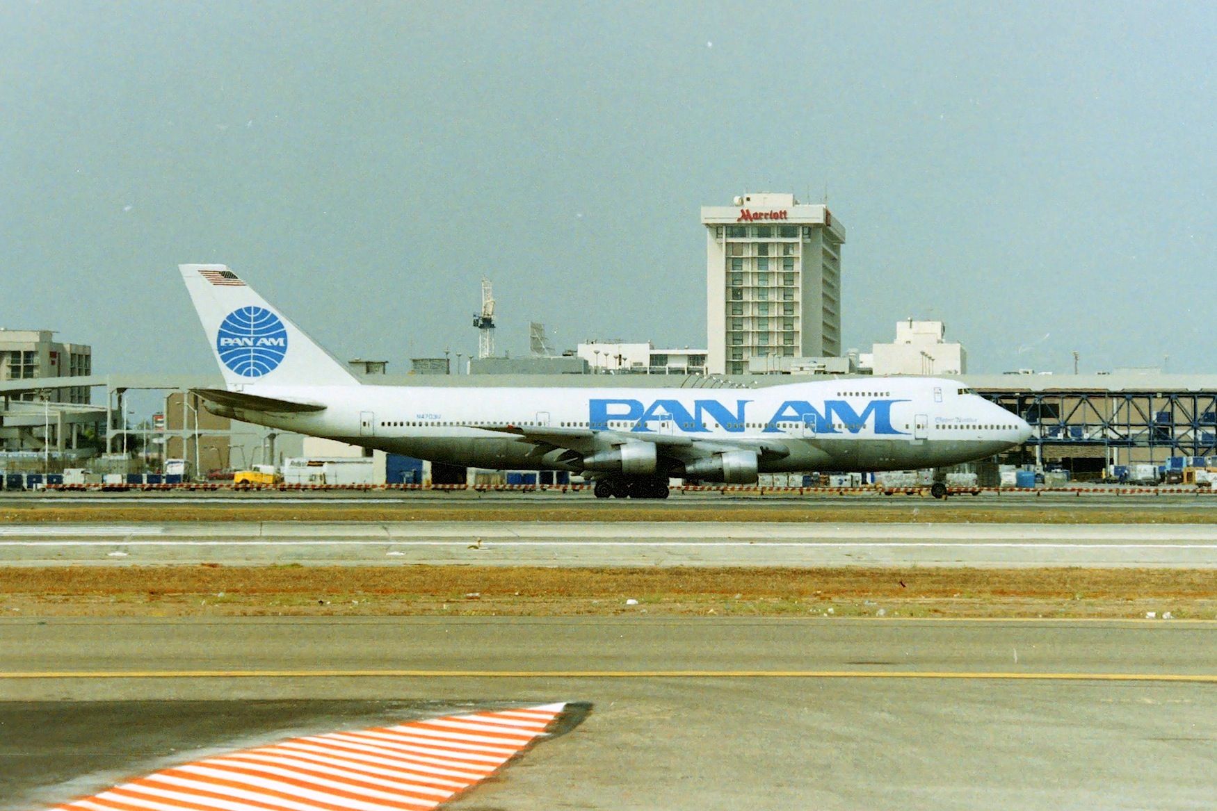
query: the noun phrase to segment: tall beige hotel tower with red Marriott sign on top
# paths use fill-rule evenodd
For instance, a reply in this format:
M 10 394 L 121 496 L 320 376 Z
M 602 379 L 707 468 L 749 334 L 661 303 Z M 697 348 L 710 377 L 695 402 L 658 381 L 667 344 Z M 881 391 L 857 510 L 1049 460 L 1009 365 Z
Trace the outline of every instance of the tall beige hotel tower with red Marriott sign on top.
M 705 205 L 707 371 L 742 374 L 750 357 L 841 354 L 841 244 L 826 205 L 752 193 Z

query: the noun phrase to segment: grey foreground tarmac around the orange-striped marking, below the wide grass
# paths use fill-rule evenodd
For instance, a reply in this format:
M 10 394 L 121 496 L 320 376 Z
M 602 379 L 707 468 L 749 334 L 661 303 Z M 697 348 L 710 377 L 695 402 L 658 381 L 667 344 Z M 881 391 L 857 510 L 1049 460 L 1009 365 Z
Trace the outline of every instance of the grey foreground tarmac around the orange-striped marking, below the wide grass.
M 571 734 L 455 809 L 1207 809 L 1217 796 L 1215 631 L 1044 620 L 4 620 L 0 809 L 28 811 L 201 751 L 414 713 L 420 700 L 593 704 Z

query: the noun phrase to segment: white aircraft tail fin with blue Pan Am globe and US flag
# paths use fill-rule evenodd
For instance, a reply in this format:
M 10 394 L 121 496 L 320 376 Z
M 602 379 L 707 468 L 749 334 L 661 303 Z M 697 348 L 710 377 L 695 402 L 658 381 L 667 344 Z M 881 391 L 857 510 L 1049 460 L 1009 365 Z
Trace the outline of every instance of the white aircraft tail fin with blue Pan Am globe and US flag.
M 229 389 L 359 379 L 225 265 L 178 265 Z

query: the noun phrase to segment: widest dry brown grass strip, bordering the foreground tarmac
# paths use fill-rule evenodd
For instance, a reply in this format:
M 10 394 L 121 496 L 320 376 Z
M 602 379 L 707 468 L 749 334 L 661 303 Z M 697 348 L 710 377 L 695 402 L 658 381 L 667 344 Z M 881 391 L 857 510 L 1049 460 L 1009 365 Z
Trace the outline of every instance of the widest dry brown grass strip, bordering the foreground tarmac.
M 627 598 L 639 601 L 628 607 Z M 0 615 L 585 615 L 649 613 L 1211 619 L 1217 573 L 1165 569 L 0 569 Z

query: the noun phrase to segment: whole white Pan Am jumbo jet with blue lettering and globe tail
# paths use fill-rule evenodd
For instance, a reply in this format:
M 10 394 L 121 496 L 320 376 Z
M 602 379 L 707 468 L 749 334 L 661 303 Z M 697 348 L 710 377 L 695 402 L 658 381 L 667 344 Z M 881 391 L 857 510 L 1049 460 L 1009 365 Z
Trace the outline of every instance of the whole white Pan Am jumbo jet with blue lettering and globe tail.
M 932 377 L 759 389 L 366 385 L 226 265 L 179 270 L 224 376 L 224 389 L 194 390 L 208 411 L 445 464 L 568 471 L 600 499 L 666 499 L 669 478 L 941 468 L 1031 437 L 1017 415 Z

